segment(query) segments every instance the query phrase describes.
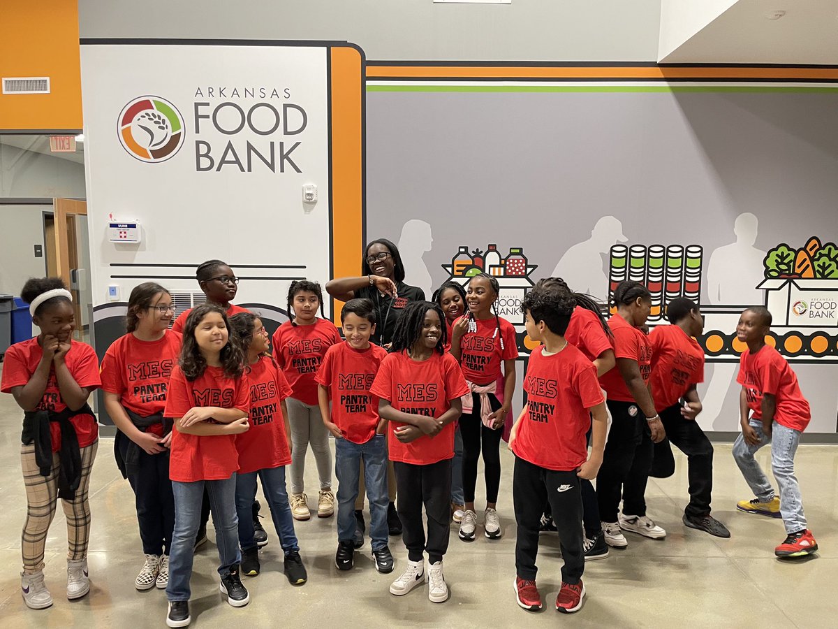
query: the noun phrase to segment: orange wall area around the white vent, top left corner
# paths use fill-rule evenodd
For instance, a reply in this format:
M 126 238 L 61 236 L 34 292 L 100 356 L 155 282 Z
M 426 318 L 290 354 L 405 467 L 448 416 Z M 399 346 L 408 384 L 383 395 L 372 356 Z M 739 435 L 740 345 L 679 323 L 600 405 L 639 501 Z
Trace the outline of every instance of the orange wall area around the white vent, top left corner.
M 49 94 L 0 94 L 0 130 L 80 129 L 76 0 L 0 0 L 0 72 L 49 76 Z

